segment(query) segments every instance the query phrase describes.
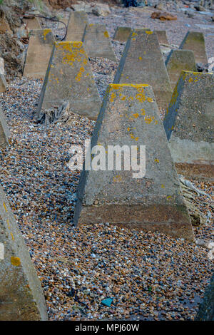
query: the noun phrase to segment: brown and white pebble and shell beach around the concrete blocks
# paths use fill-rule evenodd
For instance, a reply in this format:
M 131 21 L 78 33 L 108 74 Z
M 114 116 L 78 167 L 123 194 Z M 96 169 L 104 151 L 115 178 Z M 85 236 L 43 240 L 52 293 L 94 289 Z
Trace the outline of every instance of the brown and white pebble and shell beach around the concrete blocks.
M 167 30 L 175 45 L 189 30 L 182 26 L 183 13 L 176 23 L 157 22 L 150 15 L 119 8 L 105 18 L 91 14 L 89 21 L 106 24 L 113 36 L 118 24 L 140 28 L 143 18 L 143 26 Z M 63 35 L 56 23 L 41 23 Z M 197 30 L 195 20 L 185 18 L 185 23 Z M 175 24 L 183 29 L 175 29 Z M 214 33 L 205 41 L 209 58 L 214 54 Z M 124 43 L 113 42 L 118 58 L 123 47 Z M 103 58 L 90 62 L 103 98 L 118 63 Z M 111 222 L 73 227 L 80 172 L 69 170 L 68 150 L 91 138 L 95 122 L 73 115 L 68 124 L 46 128 L 36 123 L 41 86 L 39 79 L 14 78 L 6 93 L 0 93 L 11 130 L 9 147 L 0 150 L 0 180 L 41 280 L 49 320 L 193 320 L 213 272 L 208 249 Z M 161 110 L 162 118 L 164 113 Z M 204 225 L 193 227 L 195 239 L 214 242 L 213 182 L 190 181 L 206 194 L 195 195 L 206 217 Z

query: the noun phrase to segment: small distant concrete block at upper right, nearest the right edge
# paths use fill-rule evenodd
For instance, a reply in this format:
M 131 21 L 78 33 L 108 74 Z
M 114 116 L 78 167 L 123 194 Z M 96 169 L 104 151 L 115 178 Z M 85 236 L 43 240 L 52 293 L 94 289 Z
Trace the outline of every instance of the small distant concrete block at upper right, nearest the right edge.
M 203 33 L 188 31 L 179 48 L 193 51 L 196 63 L 208 63 Z

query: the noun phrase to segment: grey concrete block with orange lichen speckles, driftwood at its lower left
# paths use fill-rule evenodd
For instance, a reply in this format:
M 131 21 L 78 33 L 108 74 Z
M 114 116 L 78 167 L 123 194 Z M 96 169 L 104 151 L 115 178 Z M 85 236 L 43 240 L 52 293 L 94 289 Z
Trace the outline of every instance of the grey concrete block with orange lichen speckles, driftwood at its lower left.
M 38 110 L 69 101 L 71 111 L 96 120 L 101 98 L 82 42 L 55 43 L 41 90 Z

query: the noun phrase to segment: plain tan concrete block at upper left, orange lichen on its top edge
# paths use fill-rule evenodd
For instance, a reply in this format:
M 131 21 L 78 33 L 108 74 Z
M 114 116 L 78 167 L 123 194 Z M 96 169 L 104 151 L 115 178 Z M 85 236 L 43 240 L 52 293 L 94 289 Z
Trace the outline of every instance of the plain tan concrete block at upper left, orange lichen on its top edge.
M 51 29 L 31 31 L 23 76 L 44 79 L 53 45 Z

